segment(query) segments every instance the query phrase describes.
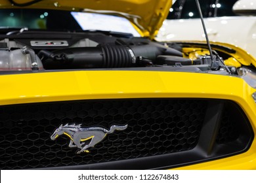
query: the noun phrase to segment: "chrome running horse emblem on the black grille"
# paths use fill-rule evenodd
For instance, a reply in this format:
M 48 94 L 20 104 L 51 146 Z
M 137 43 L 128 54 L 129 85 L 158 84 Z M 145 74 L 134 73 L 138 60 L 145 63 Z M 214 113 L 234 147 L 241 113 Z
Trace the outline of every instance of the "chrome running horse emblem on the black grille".
M 89 152 L 87 148 L 94 147 L 95 144 L 101 142 L 108 133 L 113 133 L 115 130 L 125 130 L 128 125 L 112 125 L 110 130 L 104 129 L 102 127 L 81 127 L 79 125 L 60 125 L 53 135 L 51 135 L 51 139 L 54 141 L 60 135 L 66 135 L 70 138 L 70 144 L 68 146 L 70 148 L 77 147 L 80 150 L 77 151 L 77 154 L 81 152 Z M 85 141 L 90 141 L 89 144 L 85 143 Z

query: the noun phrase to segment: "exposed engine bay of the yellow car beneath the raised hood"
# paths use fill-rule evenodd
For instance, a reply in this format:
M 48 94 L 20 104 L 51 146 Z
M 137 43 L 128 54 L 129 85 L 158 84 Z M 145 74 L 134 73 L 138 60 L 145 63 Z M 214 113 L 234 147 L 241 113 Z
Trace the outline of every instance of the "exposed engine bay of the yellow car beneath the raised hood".
M 236 53 L 232 48 L 223 46 L 219 50 L 224 51 L 214 51 L 211 58 L 206 44 L 154 42 L 125 33 L 11 31 L 0 39 L 0 71 L 118 69 L 239 75 L 242 67 L 232 57 Z

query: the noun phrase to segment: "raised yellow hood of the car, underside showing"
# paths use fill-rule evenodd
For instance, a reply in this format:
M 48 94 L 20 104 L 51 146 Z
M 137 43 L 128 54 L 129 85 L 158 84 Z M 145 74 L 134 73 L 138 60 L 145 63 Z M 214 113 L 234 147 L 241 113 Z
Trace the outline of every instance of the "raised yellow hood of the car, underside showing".
M 142 35 L 153 38 L 167 17 L 171 0 L 0 0 L 1 8 L 49 8 L 115 14 L 130 20 Z

